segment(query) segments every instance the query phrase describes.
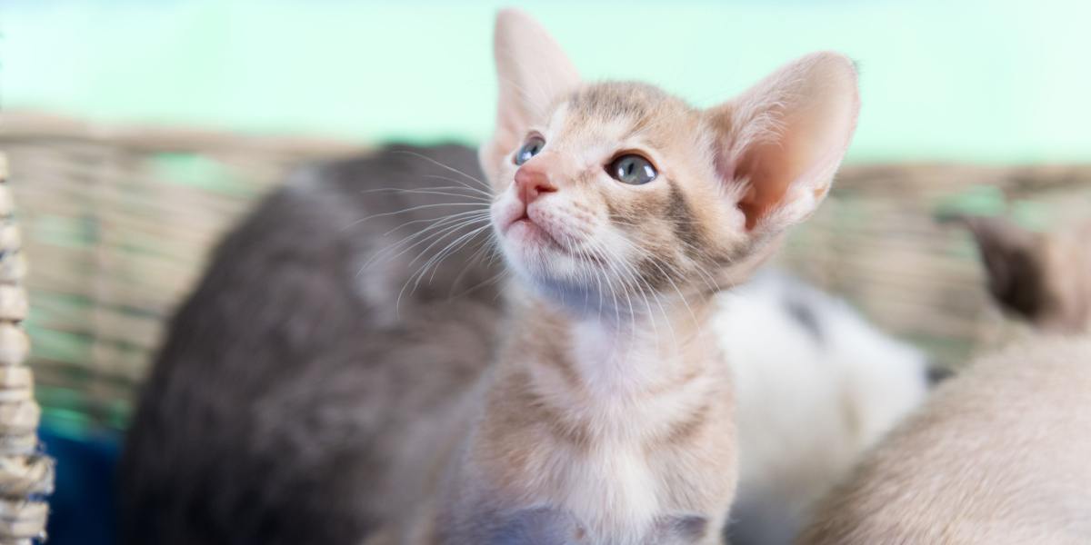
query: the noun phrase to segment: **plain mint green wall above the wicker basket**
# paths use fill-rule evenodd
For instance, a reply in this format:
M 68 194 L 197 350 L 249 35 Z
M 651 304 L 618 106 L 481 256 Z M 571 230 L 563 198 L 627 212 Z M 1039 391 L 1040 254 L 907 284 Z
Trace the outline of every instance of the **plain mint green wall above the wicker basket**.
M 480 140 L 497 2 L 3 0 L 4 108 L 362 141 Z M 590 77 L 698 105 L 858 59 L 854 160 L 1091 160 L 1091 2 L 537 1 Z

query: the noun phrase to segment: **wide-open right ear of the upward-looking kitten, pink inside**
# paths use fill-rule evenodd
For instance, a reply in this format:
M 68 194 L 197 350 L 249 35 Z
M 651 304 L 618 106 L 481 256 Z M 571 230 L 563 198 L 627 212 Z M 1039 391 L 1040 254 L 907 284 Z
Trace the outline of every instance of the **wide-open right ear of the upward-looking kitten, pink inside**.
M 859 111 L 852 61 L 818 52 L 706 112 L 717 132 L 717 169 L 724 183 L 739 184 L 748 230 L 779 232 L 814 211 L 844 157 Z

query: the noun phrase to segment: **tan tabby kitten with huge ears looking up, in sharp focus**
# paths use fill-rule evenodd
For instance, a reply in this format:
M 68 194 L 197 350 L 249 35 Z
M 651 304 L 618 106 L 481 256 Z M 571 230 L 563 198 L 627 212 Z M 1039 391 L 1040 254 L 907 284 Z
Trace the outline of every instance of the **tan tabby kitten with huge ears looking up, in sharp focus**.
M 582 83 L 519 12 L 495 32 L 480 156 L 511 319 L 460 409 L 410 424 L 391 482 L 437 489 L 375 542 L 718 543 L 738 457 L 711 298 L 825 197 L 855 129 L 854 68 L 815 53 L 698 110 Z

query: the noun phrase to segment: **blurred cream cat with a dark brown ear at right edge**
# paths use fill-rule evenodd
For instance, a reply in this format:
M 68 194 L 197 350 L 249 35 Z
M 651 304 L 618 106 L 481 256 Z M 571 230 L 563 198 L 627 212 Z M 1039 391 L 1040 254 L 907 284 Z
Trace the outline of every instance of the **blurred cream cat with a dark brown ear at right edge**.
M 940 386 L 825 498 L 802 544 L 1091 543 L 1088 239 L 963 219 L 997 301 L 1070 335 L 1027 339 Z

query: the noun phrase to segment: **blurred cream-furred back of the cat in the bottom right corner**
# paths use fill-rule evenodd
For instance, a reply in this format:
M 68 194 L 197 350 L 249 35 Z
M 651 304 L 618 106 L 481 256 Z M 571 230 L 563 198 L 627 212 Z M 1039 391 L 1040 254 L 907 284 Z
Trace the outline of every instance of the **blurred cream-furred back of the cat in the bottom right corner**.
M 1088 543 L 1091 339 L 978 361 L 870 452 L 805 544 Z

